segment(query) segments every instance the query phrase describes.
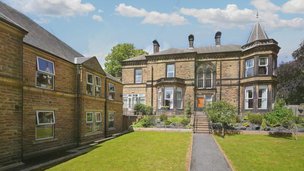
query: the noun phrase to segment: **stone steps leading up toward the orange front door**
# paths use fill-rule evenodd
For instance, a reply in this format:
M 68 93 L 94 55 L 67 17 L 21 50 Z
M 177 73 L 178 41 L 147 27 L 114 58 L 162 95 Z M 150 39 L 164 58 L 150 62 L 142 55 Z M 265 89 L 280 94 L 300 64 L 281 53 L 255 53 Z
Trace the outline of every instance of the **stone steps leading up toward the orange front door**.
M 203 134 L 210 133 L 208 118 L 202 112 L 196 113 L 196 115 L 194 117 L 193 127 L 194 127 L 194 129 L 193 129 L 194 133 L 203 133 Z

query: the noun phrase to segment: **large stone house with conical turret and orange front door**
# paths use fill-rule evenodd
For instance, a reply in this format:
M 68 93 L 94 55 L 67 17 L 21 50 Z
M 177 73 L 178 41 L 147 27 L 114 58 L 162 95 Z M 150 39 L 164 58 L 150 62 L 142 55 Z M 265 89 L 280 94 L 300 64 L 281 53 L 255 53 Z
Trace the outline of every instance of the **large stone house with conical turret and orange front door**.
M 169 110 L 178 114 L 186 105 L 195 111 L 208 103 L 227 101 L 238 113 L 267 112 L 276 94 L 277 54 L 274 39 L 268 38 L 257 22 L 244 45 L 224 45 L 221 32 L 213 46 L 159 51 L 123 61 L 124 111 L 132 113 L 136 103 L 153 107 L 156 113 Z

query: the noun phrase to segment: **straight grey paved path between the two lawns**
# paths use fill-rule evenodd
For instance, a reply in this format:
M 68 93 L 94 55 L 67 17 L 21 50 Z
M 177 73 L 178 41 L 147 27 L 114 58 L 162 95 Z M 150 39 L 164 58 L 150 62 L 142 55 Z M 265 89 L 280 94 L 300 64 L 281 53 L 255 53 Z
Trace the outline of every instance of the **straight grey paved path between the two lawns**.
M 191 171 L 231 171 L 212 135 L 193 134 Z

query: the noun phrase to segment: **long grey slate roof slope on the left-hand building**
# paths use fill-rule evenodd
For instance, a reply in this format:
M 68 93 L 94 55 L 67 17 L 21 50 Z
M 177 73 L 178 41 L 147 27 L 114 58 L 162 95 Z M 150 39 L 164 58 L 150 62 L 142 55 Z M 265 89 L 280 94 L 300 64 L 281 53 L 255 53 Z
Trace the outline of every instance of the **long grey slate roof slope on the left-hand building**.
M 20 26 L 28 31 L 23 41 L 34 47 L 54 54 L 62 59 L 74 63 L 75 57 L 83 57 L 82 54 L 71 48 L 69 45 L 59 40 L 53 34 L 42 28 L 29 17 L 13 9 L 0 1 L 1 18 Z

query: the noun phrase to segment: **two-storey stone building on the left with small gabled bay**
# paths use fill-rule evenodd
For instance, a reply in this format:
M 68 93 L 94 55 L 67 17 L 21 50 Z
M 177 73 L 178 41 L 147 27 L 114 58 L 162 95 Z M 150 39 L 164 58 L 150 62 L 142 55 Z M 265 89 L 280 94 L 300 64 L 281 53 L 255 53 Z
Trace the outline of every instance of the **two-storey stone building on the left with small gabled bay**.
M 0 168 L 121 132 L 122 88 L 96 57 L 0 2 Z

